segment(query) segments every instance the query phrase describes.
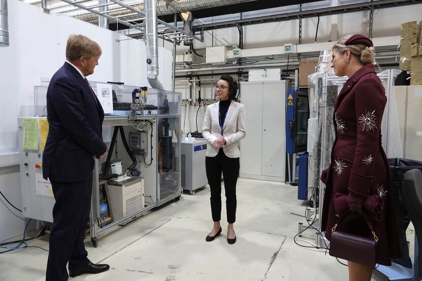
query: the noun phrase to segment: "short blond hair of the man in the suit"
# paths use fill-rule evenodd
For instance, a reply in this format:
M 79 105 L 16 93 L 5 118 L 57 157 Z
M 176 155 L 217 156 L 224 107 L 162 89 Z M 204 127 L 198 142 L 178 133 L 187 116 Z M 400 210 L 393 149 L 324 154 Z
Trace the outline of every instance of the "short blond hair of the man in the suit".
M 101 52 L 100 45 L 86 36 L 72 34 L 68 38 L 66 45 L 66 58 L 68 60 L 75 60 L 81 56 L 89 58 L 101 55 Z

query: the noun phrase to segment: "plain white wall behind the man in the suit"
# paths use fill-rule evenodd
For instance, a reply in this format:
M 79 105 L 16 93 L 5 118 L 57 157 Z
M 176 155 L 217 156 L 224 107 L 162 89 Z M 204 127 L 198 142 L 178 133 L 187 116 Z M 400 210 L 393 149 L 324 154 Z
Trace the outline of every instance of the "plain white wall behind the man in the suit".
M 121 81 L 146 86 L 146 51 L 139 40 L 128 39 L 110 30 L 40 8 L 9 0 L 10 46 L 0 48 L 0 191 L 16 207 L 21 207 L 19 167 L 6 153 L 18 151 L 17 117 L 33 115 L 34 86 L 41 77 L 51 77 L 65 62 L 70 34 L 83 34 L 98 42 L 102 56 L 92 81 Z M 160 76 L 171 89 L 172 51 L 160 48 Z M 9 163 L 8 163 L 9 162 Z M 8 166 L 9 165 L 9 166 Z M 6 167 L 5 167 L 6 166 Z M 0 241 L 20 234 L 24 221 L 7 202 L 0 199 Z

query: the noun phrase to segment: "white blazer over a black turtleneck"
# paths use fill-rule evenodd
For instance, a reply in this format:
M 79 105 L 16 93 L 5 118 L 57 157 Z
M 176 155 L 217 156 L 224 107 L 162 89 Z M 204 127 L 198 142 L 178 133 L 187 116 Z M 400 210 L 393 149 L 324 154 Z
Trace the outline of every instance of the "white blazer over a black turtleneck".
M 206 108 L 202 137 L 210 145 L 206 149 L 206 156 L 215 157 L 219 149 L 214 148 L 214 141 L 221 136 L 219 121 L 220 102 L 209 105 Z M 231 101 L 223 125 L 223 136 L 226 145 L 223 146 L 224 154 L 228 158 L 240 157 L 239 141 L 246 136 L 245 130 L 245 106 Z

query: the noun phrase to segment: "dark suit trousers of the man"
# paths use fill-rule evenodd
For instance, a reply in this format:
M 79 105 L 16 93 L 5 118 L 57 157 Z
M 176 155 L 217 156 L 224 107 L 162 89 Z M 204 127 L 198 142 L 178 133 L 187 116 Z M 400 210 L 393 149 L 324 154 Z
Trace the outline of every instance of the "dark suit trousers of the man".
M 88 263 L 85 245 L 86 224 L 91 209 L 92 178 L 79 182 L 51 181 L 54 198 L 53 227 L 50 233 L 46 281 L 69 278 L 69 269 Z

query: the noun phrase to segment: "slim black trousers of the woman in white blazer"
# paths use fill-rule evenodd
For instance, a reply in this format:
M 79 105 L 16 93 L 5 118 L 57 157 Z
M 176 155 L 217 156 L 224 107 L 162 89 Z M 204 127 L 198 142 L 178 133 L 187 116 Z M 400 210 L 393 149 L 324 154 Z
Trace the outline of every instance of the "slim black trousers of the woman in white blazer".
M 213 221 L 221 220 L 221 172 L 226 191 L 227 222 L 236 221 L 236 182 L 239 175 L 239 158 L 228 158 L 222 148 L 216 157 L 205 158 L 206 177 L 211 189 L 211 213 Z

